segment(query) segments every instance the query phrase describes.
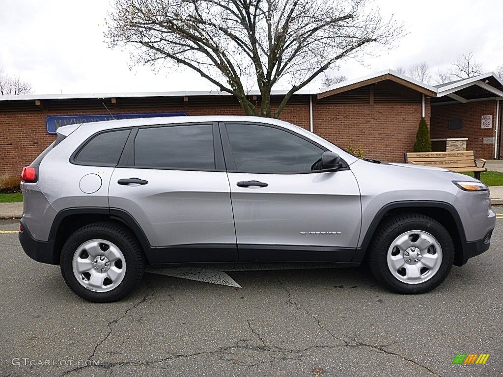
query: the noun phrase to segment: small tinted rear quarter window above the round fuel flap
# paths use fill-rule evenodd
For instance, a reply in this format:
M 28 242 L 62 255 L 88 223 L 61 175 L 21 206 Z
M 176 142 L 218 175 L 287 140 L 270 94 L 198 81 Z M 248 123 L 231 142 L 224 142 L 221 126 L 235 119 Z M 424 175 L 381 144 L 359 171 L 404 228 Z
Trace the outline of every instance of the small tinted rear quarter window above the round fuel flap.
M 91 139 L 75 156 L 75 162 L 117 165 L 130 130 L 105 132 Z

